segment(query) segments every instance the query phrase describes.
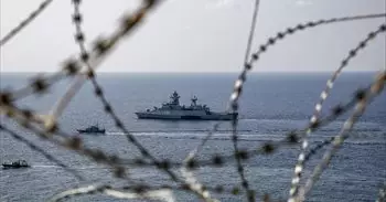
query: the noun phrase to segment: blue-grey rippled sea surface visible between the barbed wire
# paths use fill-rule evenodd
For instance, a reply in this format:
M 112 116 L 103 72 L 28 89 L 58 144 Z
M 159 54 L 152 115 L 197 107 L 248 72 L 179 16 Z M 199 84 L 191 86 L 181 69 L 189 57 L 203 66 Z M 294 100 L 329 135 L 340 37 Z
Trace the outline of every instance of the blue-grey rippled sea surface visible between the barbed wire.
M 29 74 L 1 74 L 1 88 L 17 89 L 28 85 Z M 255 149 L 267 140 L 279 140 L 292 129 L 304 127 L 313 113 L 314 105 L 325 86 L 330 73 L 254 73 L 247 78 L 240 98 L 240 120 L 238 134 L 240 148 Z M 97 76 L 107 99 L 127 128 L 139 141 L 159 159 L 181 161 L 205 137 L 216 121 L 168 121 L 140 120 L 135 111 L 168 102 L 173 91 L 180 103 L 190 105 L 195 95 L 200 104 L 206 104 L 212 110 L 225 110 L 237 74 L 100 74 Z M 366 87 L 374 73 L 344 73 L 335 83 L 322 115 L 328 115 L 337 104 L 350 102 L 358 87 Z M 50 88 L 47 95 L 33 95 L 18 102 L 19 106 L 47 113 L 61 97 L 71 81 L 63 81 Z M 106 136 L 84 136 L 85 143 L 108 153 L 124 158 L 140 157 L 138 150 L 127 142 L 124 134 L 103 110 L 101 103 L 94 95 L 89 83 L 84 85 L 60 118 L 60 127 L 69 135 L 75 129 L 99 124 L 107 130 Z M 311 135 L 311 147 L 335 136 L 346 113 L 336 121 Z M 31 150 L 28 146 L 12 139 L 1 131 L 0 161 L 8 162 L 25 159 L 32 168 L 0 170 L 0 201 L 41 202 L 66 189 L 90 183 L 110 183 L 129 185 L 130 182 L 111 177 L 111 170 L 95 163 L 75 152 L 49 143 L 23 129 L 13 121 L 1 117 L 1 123 L 15 129 L 25 138 L 44 148 L 68 167 L 86 178 L 78 182 L 54 162 Z M 330 167 L 321 176 L 307 201 L 312 202 L 362 202 L 375 201 L 380 185 L 386 181 L 386 93 L 380 94 L 367 107 L 342 149 L 334 156 Z M 321 150 L 324 152 L 324 149 Z M 307 162 L 304 178 L 308 178 L 315 163 L 321 159 L 318 152 Z M 230 124 L 224 121 L 219 131 L 205 145 L 199 159 L 210 159 L 213 155 L 230 156 Z M 257 201 L 269 194 L 275 200 L 286 200 L 289 193 L 293 167 L 299 147 L 279 149 L 269 156 L 256 156 L 244 162 L 245 173 L 251 189 L 256 190 Z M 178 172 L 178 170 L 175 170 Z M 149 184 L 170 184 L 168 177 L 153 168 L 130 168 L 127 172 L 132 179 L 142 179 Z M 222 168 L 203 167 L 194 171 L 206 185 L 217 184 L 225 188 L 239 185 L 235 161 L 228 161 Z M 304 179 L 303 178 L 303 179 Z M 303 183 L 303 181 L 302 181 Z M 244 193 L 213 194 L 221 201 L 245 200 Z M 175 191 L 175 201 L 200 201 L 195 195 Z M 79 195 L 66 201 L 122 201 L 100 194 Z M 132 200 L 141 201 L 141 200 Z

